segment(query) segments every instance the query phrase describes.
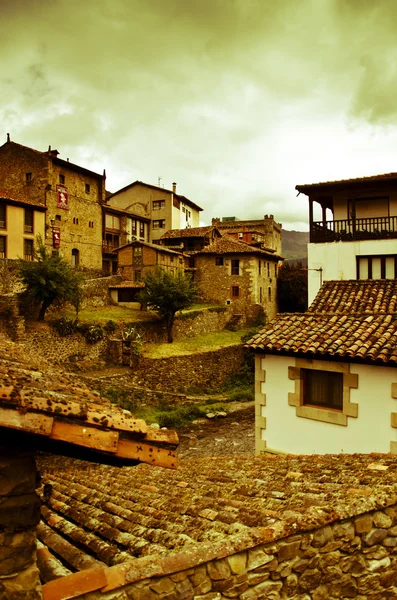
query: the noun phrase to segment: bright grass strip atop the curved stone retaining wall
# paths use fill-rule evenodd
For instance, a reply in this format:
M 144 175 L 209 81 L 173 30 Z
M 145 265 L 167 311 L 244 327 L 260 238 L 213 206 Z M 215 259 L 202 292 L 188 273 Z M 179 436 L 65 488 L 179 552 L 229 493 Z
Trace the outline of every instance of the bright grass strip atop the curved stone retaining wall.
M 145 344 L 143 347 L 143 356 L 148 358 L 165 358 L 217 350 L 225 346 L 241 344 L 241 336 L 245 332 L 245 329 L 240 329 L 239 331 L 225 329 L 224 331 L 213 331 L 204 335 L 196 335 L 195 337 L 179 340 L 172 344 Z

